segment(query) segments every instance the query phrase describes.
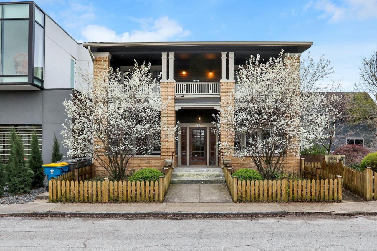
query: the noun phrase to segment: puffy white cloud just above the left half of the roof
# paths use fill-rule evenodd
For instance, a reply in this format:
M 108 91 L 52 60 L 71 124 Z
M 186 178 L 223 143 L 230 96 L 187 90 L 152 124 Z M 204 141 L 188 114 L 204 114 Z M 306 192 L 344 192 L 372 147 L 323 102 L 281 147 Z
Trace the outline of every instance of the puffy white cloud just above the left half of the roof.
M 150 18 L 134 19 L 141 24 L 143 30 L 134 30 L 116 34 L 115 31 L 94 24 L 87 25 L 82 31 L 83 40 L 87 42 L 156 42 L 178 40 L 190 34 L 175 20 L 162 17 L 156 20 Z M 150 23 L 152 22 L 152 25 Z

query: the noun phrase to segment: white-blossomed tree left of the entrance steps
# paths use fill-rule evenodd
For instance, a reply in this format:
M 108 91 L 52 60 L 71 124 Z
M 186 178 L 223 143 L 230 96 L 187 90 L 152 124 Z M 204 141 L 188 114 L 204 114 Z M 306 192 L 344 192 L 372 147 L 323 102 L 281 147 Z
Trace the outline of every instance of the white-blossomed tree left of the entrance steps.
M 69 121 L 61 134 L 68 156 L 92 156 L 111 178 L 124 179 L 132 156 L 147 155 L 161 138 L 174 135 L 176 127 L 162 126 L 166 104 L 156 95 L 159 83 L 149 69 L 135 61 L 126 73 L 110 68 L 100 79 L 83 76 L 88 89 L 63 103 Z

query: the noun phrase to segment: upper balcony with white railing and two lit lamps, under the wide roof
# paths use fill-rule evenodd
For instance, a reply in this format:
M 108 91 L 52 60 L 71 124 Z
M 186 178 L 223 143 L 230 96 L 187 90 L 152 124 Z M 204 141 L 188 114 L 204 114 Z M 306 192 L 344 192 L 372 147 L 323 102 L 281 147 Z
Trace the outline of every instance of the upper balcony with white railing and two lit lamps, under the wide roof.
M 175 102 L 190 106 L 219 103 L 225 82 L 235 82 L 234 70 L 250 55 L 262 60 L 285 52 L 300 54 L 311 42 L 146 42 L 84 43 L 92 56 L 108 57 L 113 68 L 122 71 L 139 64 L 151 64 L 150 72 L 161 83 L 175 85 Z M 156 90 L 156 94 L 159 90 Z M 183 105 L 182 105 L 183 106 Z

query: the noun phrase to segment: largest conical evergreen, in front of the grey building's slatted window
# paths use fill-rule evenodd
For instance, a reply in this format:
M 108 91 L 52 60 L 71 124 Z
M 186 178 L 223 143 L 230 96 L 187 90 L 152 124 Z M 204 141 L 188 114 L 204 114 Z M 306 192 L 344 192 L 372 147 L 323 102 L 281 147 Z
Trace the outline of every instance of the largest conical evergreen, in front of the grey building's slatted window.
M 31 189 L 33 171 L 26 165 L 23 143 L 13 129 L 9 137 L 10 157 L 6 170 L 8 193 L 12 195 L 26 193 Z

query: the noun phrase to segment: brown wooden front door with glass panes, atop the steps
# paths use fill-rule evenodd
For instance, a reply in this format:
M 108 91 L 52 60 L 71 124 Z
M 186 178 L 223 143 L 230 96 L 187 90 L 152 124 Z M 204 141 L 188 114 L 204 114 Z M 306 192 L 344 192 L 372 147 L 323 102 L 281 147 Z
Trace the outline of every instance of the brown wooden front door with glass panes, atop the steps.
M 190 165 L 207 165 L 207 127 L 190 127 Z

